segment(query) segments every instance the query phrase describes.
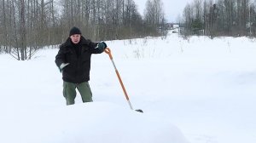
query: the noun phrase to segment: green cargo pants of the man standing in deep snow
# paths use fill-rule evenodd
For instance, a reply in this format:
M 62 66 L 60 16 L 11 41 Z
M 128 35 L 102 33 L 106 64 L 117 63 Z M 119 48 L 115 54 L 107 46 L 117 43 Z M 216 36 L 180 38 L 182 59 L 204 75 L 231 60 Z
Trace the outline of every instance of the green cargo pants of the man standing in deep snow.
M 68 83 L 63 82 L 63 95 L 67 100 L 67 106 L 73 105 L 75 103 L 75 98 L 77 95 L 76 89 L 79 90 L 83 102 L 92 102 L 92 94 L 90 90 L 90 85 L 88 82 L 84 83 Z

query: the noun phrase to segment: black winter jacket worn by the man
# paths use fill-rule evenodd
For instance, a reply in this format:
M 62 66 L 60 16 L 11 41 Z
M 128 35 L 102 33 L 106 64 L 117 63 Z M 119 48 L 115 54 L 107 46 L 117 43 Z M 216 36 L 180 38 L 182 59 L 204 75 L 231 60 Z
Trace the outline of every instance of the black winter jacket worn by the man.
M 61 44 L 60 50 L 55 56 L 55 63 L 58 67 L 62 63 L 69 63 L 62 69 L 62 79 L 65 82 L 83 83 L 90 80 L 91 54 L 101 54 L 104 51 L 104 49 L 95 49 L 96 44 L 82 36 L 76 46 L 69 37 L 65 43 Z

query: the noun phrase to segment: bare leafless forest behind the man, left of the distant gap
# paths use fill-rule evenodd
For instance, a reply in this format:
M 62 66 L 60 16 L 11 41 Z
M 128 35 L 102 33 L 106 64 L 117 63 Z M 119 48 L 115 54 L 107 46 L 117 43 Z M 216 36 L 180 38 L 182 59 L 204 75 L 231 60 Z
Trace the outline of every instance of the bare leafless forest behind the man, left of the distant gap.
M 105 41 L 158 36 L 163 23 L 160 0 L 148 0 L 144 15 L 133 0 L 2 0 L 0 53 L 29 60 L 38 49 L 63 43 L 73 26 Z

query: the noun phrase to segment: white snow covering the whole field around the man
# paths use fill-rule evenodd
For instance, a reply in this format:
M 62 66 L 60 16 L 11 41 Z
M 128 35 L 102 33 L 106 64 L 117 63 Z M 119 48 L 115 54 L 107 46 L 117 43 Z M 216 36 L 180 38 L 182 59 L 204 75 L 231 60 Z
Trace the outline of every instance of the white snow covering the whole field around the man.
M 254 143 L 256 40 L 147 37 L 108 41 L 92 56 L 91 103 L 66 106 L 58 49 L 27 61 L 0 55 L 0 140 L 4 143 Z

